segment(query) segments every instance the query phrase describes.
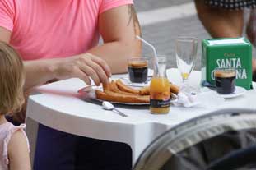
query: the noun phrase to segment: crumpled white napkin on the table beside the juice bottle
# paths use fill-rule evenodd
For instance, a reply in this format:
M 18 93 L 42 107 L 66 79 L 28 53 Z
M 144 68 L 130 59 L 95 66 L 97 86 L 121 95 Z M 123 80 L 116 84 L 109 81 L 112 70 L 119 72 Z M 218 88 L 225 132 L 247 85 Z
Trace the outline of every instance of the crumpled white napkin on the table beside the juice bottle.
M 198 101 L 197 94 L 187 94 L 182 91 L 177 95 L 177 99 L 172 101 L 175 106 L 184 106 L 185 108 L 190 108 L 198 105 L 200 102 Z

